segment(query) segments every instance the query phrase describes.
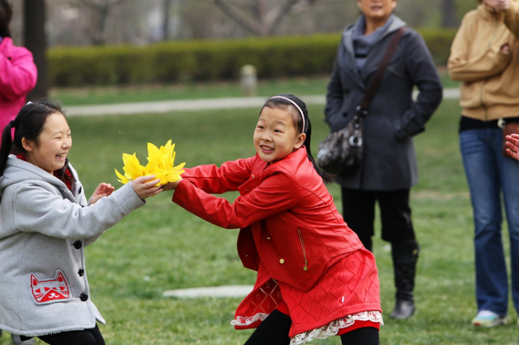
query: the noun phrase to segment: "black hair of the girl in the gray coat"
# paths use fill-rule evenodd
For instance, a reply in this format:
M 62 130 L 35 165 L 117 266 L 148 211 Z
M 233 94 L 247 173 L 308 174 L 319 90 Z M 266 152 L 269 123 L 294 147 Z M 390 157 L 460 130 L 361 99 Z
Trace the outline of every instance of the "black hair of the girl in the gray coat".
M 9 122 L 3 129 L 0 144 L 0 176 L 6 169 L 7 158 L 10 153 L 26 153 L 24 145 L 21 144 L 22 138 L 32 140 L 38 145 L 39 134 L 44 129 L 45 121 L 49 115 L 55 113 L 64 115 L 60 105 L 48 102 L 29 102 L 21 107 L 15 120 Z M 15 138 L 11 140 L 11 129 L 13 128 L 15 129 Z

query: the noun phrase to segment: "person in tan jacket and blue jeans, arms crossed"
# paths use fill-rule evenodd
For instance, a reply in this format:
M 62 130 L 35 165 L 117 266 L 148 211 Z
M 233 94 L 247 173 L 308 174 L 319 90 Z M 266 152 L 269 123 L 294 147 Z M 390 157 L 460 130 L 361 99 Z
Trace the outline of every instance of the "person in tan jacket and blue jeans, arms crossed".
M 498 326 L 507 321 L 509 296 L 501 200 L 509 230 L 513 306 L 519 312 L 519 162 L 504 155 L 503 139 L 504 129 L 519 129 L 519 0 L 480 0 L 459 27 L 448 71 L 462 82 L 459 145 L 475 223 L 477 315 L 472 324 Z

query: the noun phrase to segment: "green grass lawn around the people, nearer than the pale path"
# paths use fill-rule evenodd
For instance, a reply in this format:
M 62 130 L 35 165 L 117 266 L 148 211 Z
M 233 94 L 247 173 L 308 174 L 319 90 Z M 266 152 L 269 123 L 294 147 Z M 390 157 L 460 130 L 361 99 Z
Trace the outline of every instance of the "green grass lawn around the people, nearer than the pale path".
M 176 162 L 220 164 L 254 154 L 252 133 L 260 109 L 194 111 L 69 119 L 70 160 L 87 194 L 106 181 L 120 185 L 113 168 L 121 155 L 146 157 L 148 141 L 176 143 Z M 322 106 L 309 106 L 313 148 L 325 137 Z M 415 142 L 419 184 L 412 189 L 413 221 L 421 244 L 415 290 L 417 311 L 408 320 L 388 317 L 394 304 L 390 248 L 379 239 L 374 253 L 381 279 L 385 326 L 381 344 L 518 344 L 516 313 L 511 324 L 476 329 L 471 205 L 457 144 L 457 101 L 444 101 Z M 337 185 L 329 185 L 341 209 Z M 250 330 L 230 326 L 237 298 L 164 298 L 164 290 L 252 284 L 242 267 L 237 230 L 222 230 L 171 202 L 172 192 L 112 227 L 86 250 L 91 297 L 107 319 L 107 344 L 243 344 Z M 235 198 L 235 194 L 228 198 Z M 505 243 L 507 230 L 504 230 Z M 506 244 L 507 245 L 507 244 Z M 508 247 L 508 245 L 507 245 Z M 10 344 L 4 334 L 0 344 Z M 37 344 L 43 344 L 37 340 Z M 340 344 L 338 337 L 310 344 Z

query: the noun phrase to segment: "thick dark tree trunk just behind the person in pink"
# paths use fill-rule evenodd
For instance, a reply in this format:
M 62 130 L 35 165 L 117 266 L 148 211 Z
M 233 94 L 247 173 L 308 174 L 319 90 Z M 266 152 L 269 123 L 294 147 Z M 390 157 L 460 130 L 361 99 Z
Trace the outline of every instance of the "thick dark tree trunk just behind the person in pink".
M 48 96 L 45 16 L 45 0 L 24 0 L 24 46 L 33 53 L 38 68 L 38 80 L 28 99 Z

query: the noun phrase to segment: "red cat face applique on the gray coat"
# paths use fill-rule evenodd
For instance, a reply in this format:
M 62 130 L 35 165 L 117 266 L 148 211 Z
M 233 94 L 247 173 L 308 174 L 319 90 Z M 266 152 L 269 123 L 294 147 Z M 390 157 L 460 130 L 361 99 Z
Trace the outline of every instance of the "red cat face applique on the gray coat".
M 62 270 L 57 270 L 51 279 L 39 280 L 30 274 L 30 291 L 37 304 L 48 304 L 69 299 L 69 282 Z

